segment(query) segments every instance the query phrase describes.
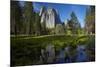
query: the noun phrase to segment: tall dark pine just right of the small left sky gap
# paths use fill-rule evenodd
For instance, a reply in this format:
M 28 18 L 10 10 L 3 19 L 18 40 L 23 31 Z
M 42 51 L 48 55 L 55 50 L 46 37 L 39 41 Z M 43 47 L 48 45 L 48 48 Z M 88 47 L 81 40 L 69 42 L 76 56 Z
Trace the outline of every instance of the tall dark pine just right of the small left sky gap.
M 32 2 L 25 2 L 24 5 L 24 33 L 33 34 L 34 33 L 34 12 Z

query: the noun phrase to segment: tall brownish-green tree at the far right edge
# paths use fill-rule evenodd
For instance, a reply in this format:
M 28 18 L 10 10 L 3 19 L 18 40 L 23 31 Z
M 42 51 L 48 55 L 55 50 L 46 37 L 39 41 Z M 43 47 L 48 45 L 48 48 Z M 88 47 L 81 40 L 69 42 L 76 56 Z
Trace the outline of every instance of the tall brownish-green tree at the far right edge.
M 95 33 L 95 6 L 90 6 L 86 10 L 85 31 L 87 34 Z

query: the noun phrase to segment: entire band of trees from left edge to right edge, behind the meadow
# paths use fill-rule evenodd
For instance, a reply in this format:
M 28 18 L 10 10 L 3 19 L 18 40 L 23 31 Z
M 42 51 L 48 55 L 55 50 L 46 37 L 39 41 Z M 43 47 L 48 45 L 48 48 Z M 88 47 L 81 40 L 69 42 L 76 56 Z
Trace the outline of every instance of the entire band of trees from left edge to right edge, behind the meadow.
M 91 34 L 95 33 L 95 7 L 89 6 L 86 10 L 85 26 L 81 27 L 80 22 L 74 13 L 70 14 L 71 19 L 67 24 L 57 24 L 55 28 L 47 29 L 45 24 L 41 24 L 39 13 L 34 11 L 32 2 L 25 2 L 24 7 L 19 1 L 11 1 L 11 35 L 44 35 L 44 34 Z M 53 32 L 53 33 L 52 33 Z

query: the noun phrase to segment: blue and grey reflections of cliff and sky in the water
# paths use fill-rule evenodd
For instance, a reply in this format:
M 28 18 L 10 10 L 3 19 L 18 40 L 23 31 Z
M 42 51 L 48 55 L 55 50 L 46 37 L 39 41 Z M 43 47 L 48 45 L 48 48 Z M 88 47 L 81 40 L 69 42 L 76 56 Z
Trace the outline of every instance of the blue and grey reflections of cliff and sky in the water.
M 41 49 L 40 60 L 44 63 L 70 63 L 73 62 L 73 56 L 70 55 L 70 46 L 60 49 L 58 55 L 55 55 L 54 45 L 49 44 L 45 49 Z M 76 49 L 74 61 L 83 62 L 87 61 L 86 48 L 84 45 L 78 45 Z

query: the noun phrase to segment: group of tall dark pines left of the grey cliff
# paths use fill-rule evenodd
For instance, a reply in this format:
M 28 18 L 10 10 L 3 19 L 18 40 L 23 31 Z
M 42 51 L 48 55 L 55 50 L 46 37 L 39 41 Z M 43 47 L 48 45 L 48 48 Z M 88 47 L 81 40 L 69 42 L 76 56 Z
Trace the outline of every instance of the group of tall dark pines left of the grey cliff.
M 32 2 L 21 8 L 18 1 L 11 1 L 11 34 L 40 34 L 40 16 L 34 12 Z

